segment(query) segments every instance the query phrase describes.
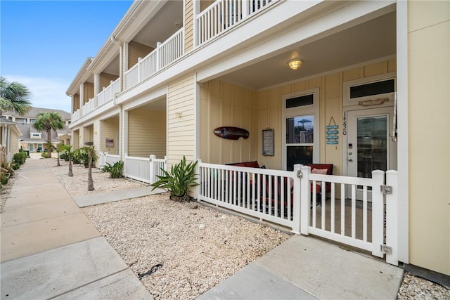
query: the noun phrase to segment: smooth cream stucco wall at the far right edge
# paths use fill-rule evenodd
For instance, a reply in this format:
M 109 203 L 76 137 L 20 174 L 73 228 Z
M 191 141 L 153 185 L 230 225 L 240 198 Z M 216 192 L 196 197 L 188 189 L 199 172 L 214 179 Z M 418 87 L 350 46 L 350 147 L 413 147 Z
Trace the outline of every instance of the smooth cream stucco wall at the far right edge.
M 408 5 L 409 262 L 450 275 L 450 2 Z

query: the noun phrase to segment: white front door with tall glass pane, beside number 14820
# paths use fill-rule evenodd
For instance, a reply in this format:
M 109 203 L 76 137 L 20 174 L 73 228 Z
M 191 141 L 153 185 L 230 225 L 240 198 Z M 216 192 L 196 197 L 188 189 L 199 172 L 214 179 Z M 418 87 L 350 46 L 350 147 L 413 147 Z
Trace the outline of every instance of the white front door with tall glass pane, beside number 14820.
M 393 107 L 347 112 L 347 176 L 372 178 L 373 170 L 397 169 L 397 143 L 390 137 L 393 113 Z M 362 199 L 362 190 L 356 189 L 356 198 Z

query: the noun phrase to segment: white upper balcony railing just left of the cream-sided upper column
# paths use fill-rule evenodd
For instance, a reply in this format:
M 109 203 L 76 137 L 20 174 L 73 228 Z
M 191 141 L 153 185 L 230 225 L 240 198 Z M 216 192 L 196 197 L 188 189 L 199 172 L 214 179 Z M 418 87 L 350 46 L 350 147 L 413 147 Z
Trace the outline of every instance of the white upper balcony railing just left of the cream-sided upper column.
M 164 43 L 158 43 L 148 56 L 139 58 L 138 63 L 125 73 L 125 89 L 147 79 L 180 58 L 184 53 L 183 32 L 181 28 Z

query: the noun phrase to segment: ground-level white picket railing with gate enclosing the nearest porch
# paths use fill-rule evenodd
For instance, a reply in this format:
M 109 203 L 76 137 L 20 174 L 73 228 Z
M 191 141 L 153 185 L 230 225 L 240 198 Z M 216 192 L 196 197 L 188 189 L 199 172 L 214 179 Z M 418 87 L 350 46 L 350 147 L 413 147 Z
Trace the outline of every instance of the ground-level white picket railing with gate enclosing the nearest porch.
M 225 207 L 261 220 L 292 228 L 293 233 L 317 235 L 397 260 L 397 171 L 373 171 L 373 178 L 310 174 L 310 167 L 278 171 L 220 164 L 199 160 L 198 200 Z M 327 193 L 321 193 L 330 187 Z M 381 191 L 386 185 L 392 193 Z M 340 197 L 336 197 L 339 193 Z M 346 199 L 345 191 L 351 191 Z M 356 190 L 363 190 L 356 200 Z M 371 193 L 372 202 L 368 195 Z M 348 229 L 347 229 L 348 228 Z M 383 247 L 382 247 L 383 246 Z

